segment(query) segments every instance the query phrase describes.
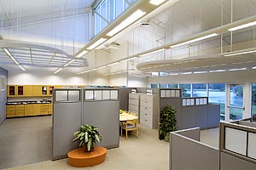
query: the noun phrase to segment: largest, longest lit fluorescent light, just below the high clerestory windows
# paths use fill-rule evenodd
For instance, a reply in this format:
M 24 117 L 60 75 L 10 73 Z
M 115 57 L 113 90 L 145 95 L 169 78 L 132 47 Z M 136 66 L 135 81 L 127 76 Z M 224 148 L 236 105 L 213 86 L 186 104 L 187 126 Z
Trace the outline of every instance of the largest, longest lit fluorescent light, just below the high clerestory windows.
M 139 18 L 141 18 L 144 14 L 146 14 L 145 12 L 143 12 L 142 10 L 138 9 L 136 12 L 134 12 L 133 14 L 131 14 L 129 17 L 127 17 L 123 22 L 121 22 L 119 24 L 119 26 L 116 26 L 115 28 L 113 28 L 112 31 L 109 31 L 106 36 L 108 37 L 112 37 L 113 35 L 115 35 L 116 33 L 118 33 L 119 31 L 123 30 L 125 27 L 131 25 L 131 23 L 133 23 L 134 21 L 138 20 Z

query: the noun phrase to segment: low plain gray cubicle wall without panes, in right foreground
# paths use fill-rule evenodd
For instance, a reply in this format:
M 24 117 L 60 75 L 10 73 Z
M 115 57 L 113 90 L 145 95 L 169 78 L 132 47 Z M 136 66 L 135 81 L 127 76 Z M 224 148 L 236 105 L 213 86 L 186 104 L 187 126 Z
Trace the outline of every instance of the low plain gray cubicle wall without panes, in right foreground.
M 170 170 L 218 170 L 219 152 L 199 141 L 200 129 L 192 128 L 170 135 Z

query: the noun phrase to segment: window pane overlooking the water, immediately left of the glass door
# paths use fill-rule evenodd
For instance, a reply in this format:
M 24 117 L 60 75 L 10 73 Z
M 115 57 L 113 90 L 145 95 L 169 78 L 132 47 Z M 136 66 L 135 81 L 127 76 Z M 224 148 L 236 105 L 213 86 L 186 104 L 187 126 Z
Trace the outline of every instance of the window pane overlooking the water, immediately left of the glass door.
M 220 120 L 225 119 L 225 84 L 224 83 L 209 83 L 209 103 L 220 105 Z

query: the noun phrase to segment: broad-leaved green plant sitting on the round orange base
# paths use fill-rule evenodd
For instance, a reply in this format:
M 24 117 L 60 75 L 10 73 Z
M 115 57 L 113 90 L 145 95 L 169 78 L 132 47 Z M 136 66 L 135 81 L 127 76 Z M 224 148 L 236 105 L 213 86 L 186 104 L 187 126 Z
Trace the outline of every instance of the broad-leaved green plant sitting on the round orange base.
M 84 151 L 92 151 L 96 142 L 102 141 L 102 135 L 98 132 L 98 128 L 94 125 L 83 125 L 78 132 L 73 133 L 76 138 L 72 141 L 79 140 L 79 147 L 83 146 Z

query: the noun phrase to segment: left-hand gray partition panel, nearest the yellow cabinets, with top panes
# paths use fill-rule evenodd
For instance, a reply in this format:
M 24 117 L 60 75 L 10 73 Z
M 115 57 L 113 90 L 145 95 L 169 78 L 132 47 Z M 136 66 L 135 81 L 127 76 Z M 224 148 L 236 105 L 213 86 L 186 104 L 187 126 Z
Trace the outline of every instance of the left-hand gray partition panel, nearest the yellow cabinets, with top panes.
M 53 93 L 52 159 L 56 160 L 67 157 L 70 150 L 78 147 L 72 139 L 82 124 L 82 89 L 54 89 Z

